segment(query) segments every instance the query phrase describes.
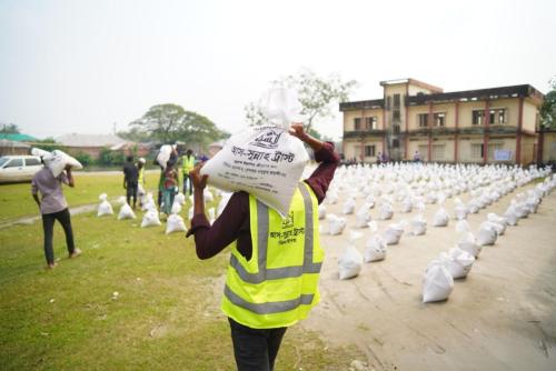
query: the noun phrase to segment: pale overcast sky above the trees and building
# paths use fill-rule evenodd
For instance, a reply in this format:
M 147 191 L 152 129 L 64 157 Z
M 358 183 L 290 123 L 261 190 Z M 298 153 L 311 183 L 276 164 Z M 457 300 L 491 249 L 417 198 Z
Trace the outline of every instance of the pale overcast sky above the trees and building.
M 230 132 L 269 82 L 309 68 L 381 97 L 380 80 L 445 91 L 556 74 L 556 1 L 0 0 L 0 122 L 109 133 L 158 103 Z M 341 114 L 317 129 L 338 138 Z

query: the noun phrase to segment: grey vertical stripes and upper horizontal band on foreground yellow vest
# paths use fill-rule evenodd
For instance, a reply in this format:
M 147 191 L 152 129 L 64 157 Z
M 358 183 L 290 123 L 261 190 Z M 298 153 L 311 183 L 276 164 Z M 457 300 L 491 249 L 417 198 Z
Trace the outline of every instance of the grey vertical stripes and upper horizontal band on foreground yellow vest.
M 312 227 L 312 201 L 309 191 L 304 184 L 298 187 L 301 195 L 304 197 L 305 203 L 305 255 L 304 264 L 297 267 L 284 267 L 284 268 L 267 268 L 267 249 L 268 249 L 268 207 L 260 201 L 257 201 L 257 217 L 258 217 L 258 247 L 259 247 L 259 259 L 258 259 L 258 273 L 250 273 L 246 271 L 245 267 L 241 265 L 236 255 L 230 255 L 230 265 L 236 269 L 239 277 L 244 282 L 248 283 L 260 283 L 265 280 L 277 280 L 282 278 L 300 277 L 302 273 L 318 273 L 322 267 L 321 262 L 312 262 L 312 249 L 314 239 L 312 228 L 307 228 L 307 225 Z M 307 248 L 309 247 L 309 248 Z

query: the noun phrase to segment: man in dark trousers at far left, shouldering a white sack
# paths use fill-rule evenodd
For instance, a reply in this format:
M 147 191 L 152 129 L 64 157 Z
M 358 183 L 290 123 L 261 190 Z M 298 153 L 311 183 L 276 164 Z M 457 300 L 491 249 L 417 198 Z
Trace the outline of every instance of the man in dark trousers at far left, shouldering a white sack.
M 41 159 L 42 160 L 42 159 Z M 63 197 L 62 183 L 73 188 L 76 186 L 71 168 L 66 167 L 66 171 L 54 178 L 50 169 L 43 167 L 39 170 L 31 181 L 31 194 L 39 205 L 42 217 L 42 230 L 44 232 L 44 257 L 47 258 L 47 267 L 54 268 L 54 250 L 52 248 L 52 237 L 54 221 L 62 225 L 66 234 L 66 245 L 70 258 L 77 258 L 81 254 L 81 250 L 76 248 L 73 242 L 73 230 L 71 228 L 71 217 L 68 210 L 68 202 Z M 39 200 L 39 193 L 41 199 Z

